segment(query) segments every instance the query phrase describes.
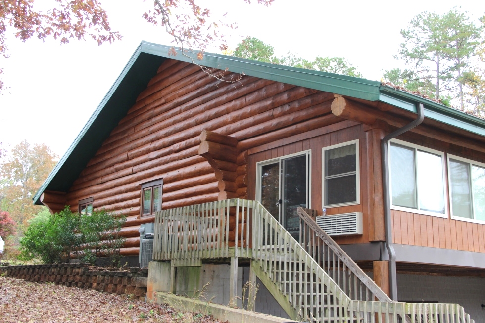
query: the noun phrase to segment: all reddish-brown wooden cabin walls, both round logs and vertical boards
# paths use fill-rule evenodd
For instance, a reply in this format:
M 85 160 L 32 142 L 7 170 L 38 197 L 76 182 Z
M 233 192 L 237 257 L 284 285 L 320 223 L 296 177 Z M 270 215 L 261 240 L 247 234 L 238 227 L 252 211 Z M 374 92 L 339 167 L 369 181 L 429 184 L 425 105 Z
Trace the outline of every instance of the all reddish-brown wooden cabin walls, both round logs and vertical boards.
M 359 139 L 361 202 L 327 213 L 363 212 L 364 234 L 338 243 L 383 241 L 380 141 L 413 118 L 394 110 L 249 76 L 224 83 L 167 59 L 70 190 L 48 192 L 43 203 L 55 208 L 65 201 L 77 211 L 79 200 L 93 197 L 95 209 L 126 214 L 122 235 L 130 243 L 121 252 L 136 255 L 138 228 L 154 218 L 140 216 L 142 183 L 163 178 L 163 209 L 254 199 L 256 162 L 311 149 L 311 207 L 321 210 L 322 147 Z M 401 139 L 485 162 L 483 143 L 469 136 L 458 145 L 456 138 L 427 120 Z M 393 212 L 393 221 L 395 243 L 485 252 L 482 225 L 405 212 Z

